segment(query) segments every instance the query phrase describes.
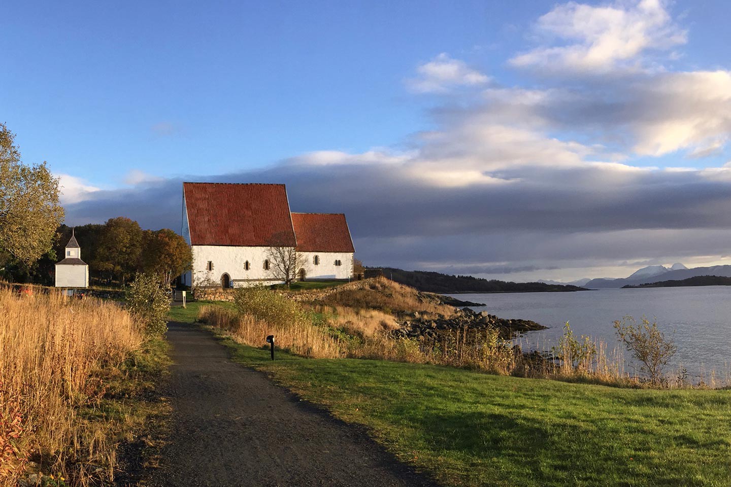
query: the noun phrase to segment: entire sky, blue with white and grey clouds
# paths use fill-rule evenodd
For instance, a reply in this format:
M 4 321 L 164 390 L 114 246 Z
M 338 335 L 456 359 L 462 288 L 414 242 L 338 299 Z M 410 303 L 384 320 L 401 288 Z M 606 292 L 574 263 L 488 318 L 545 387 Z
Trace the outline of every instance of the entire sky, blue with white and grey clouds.
M 728 18 L 725 1 L 15 2 L 0 120 L 62 177 L 72 224 L 177 229 L 181 180 L 270 181 L 293 210 L 346 211 L 370 264 L 725 263 Z

